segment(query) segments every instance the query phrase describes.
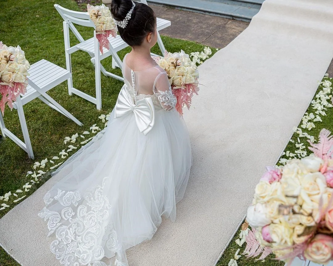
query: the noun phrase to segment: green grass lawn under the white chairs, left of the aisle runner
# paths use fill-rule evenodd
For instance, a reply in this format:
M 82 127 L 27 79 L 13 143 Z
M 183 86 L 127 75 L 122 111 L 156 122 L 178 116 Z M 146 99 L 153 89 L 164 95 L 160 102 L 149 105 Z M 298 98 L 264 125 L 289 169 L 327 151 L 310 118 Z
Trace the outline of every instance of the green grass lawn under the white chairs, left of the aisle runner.
M 74 0 L 22 0 L 19 2 L 1 0 L 1 6 L 5 8 L 0 9 L 0 41 L 7 46 L 20 45 L 30 64 L 46 59 L 66 68 L 63 20 L 53 7 L 54 4 L 76 11 L 83 9 L 82 5 L 79 7 Z M 92 28 L 78 26 L 77 29 L 85 39 L 93 36 Z M 71 45 L 78 43 L 72 33 L 70 38 Z M 172 39 L 166 36 L 162 36 L 162 39 L 166 49 L 170 52 L 178 52 L 180 49 L 186 53 L 203 50 L 203 45 L 195 42 Z M 118 54 L 123 59 L 125 54 L 130 51 L 131 49 L 127 48 Z M 157 45 L 152 49 L 152 52 L 161 54 Z M 212 52 L 215 53 L 216 50 L 212 49 Z M 107 70 L 112 69 L 111 57 L 103 60 L 102 64 Z M 74 53 L 72 55 L 72 69 L 74 87 L 94 96 L 95 73 L 89 55 L 81 51 Z M 119 68 L 112 69 L 111 72 L 121 75 Z M 59 156 L 59 152 L 71 144 L 64 144 L 66 136 L 72 136 L 77 132 L 80 135 L 85 130 L 89 131 L 89 128 L 95 123 L 102 127 L 104 123 L 98 117 L 112 111 L 123 83 L 102 74 L 101 84 L 103 108 L 100 111 L 96 109 L 96 105 L 79 96 L 69 96 L 66 81 L 48 92 L 51 97 L 83 122 L 83 127 L 76 125 L 39 99 L 24 105 L 35 159 L 29 159 L 27 154 L 9 138 L 0 140 L 0 196 L 9 191 L 13 193 L 17 189 L 22 189 L 22 186 L 31 180 L 30 176 L 26 177 L 26 173 L 32 170 L 34 162 L 40 162 L 45 158 L 50 160 L 53 156 Z M 10 111 L 6 107 L 4 121 L 6 127 L 23 140 L 17 111 Z M 74 145 L 77 146 L 77 143 Z M 39 184 L 35 184 L 30 191 L 23 192 L 19 197 L 31 195 L 48 177 L 49 175 L 44 176 Z M 13 203 L 12 199 L 8 201 L 7 204 L 10 207 L 0 210 L 0 217 L 19 202 Z M 0 265 L 19 264 L 0 249 Z

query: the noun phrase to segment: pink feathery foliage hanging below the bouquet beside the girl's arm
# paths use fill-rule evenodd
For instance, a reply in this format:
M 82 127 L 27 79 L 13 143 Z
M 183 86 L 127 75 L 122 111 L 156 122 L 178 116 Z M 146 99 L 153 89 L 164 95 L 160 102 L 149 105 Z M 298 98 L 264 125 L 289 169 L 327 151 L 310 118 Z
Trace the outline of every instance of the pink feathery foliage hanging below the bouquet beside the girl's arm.
M 177 98 L 176 110 L 181 116 L 183 115 L 183 106 L 186 105 L 189 110 L 193 94 L 195 93 L 198 95 L 199 87 L 197 85 L 198 83 L 196 79 L 195 83 L 184 84 L 181 88 L 177 89 L 172 88 L 172 93 Z

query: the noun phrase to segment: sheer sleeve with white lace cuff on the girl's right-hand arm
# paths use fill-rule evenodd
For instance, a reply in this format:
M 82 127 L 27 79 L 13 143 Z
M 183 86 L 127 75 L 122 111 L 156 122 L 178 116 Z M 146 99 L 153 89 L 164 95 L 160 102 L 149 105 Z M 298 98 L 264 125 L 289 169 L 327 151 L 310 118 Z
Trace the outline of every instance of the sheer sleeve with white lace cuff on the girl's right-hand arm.
M 166 72 L 161 72 L 155 79 L 153 92 L 159 99 L 161 106 L 166 111 L 172 110 L 177 103 L 177 98 L 172 94 Z

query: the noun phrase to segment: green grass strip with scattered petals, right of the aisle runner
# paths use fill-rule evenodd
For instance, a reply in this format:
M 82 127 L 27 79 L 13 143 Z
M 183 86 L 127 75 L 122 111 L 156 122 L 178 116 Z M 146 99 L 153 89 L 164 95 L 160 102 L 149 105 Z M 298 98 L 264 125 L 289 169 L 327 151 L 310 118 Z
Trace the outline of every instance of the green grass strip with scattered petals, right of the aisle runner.
M 331 82 L 333 82 L 333 78 L 323 78 L 323 80 L 330 80 Z M 323 86 L 319 85 L 318 90 L 316 92 L 316 94 L 322 90 Z M 332 92 L 329 94 L 332 95 Z M 310 105 L 307 109 L 307 113 L 315 113 L 315 109 L 313 109 L 313 107 Z M 325 110 L 326 112 L 326 116 L 321 116 L 322 122 L 315 122 L 315 128 L 312 128 L 311 130 L 306 130 L 301 128 L 301 124 L 300 123 L 298 125 L 298 128 L 301 128 L 303 132 L 307 132 L 309 135 L 314 136 L 315 139 L 318 140 L 318 135 L 319 132 L 321 131 L 321 129 L 326 128 L 328 130 L 330 130 L 333 134 L 333 108 L 327 108 L 327 110 Z M 294 133 L 291 140 L 294 142 L 288 142 L 288 145 L 286 146 L 284 152 L 290 151 L 292 153 L 296 153 L 295 150 L 297 150 L 298 148 L 296 148 L 296 143 L 298 143 L 298 134 Z M 310 153 L 312 153 L 310 150 L 307 149 L 307 147 L 309 146 L 309 143 L 307 142 L 307 138 L 303 137 L 300 138 L 300 142 L 304 143 L 304 146 L 306 146 L 306 148 L 304 150 L 308 151 L 308 155 Z M 281 158 L 286 158 L 288 159 L 288 157 L 286 157 L 286 155 L 281 156 Z M 278 164 L 280 165 L 280 164 Z M 262 170 L 262 172 L 264 173 L 265 169 Z M 260 178 L 260 177 L 258 177 Z M 254 193 L 254 191 L 253 191 Z M 224 254 L 222 255 L 221 259 L 219 260 L 217 266 L 226 266 L 228 265 L 230 259 L 234 258 L 234 254 L 237 251 L 238 248 L 240 248 L 240 252 L 239 255 L 241 255 L 245 249 L 246 243 L 243 244 L 242 247 L 239 247 L 239 245 L 237 245 L 235 243 L 235 240 L 239 238 L 239 233 L 240 233 L 240 229 L 238 230 L 238 232 L 235 234 L 234 238 L 232 239 L 231 243 L 229 244 L 229 246 L 227 247 L 227 249 L 225 250 Z M 239 258 L 237 260 L 237 264 L 238 266 L 283 266 L 284 263 L 276 261 L 273 259 L 274 256 L 269 256 L 267 257 L 264 261 L 255 261 L 253 258 L 246 258 L 245 256 L 242 256 L 241 258 Z

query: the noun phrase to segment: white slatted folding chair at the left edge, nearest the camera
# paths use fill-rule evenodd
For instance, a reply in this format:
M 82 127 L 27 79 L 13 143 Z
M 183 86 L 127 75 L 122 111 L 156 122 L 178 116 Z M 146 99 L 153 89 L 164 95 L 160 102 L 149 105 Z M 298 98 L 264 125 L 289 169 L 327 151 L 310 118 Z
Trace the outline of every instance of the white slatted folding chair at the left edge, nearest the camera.
M 34 158 L 27 123 L 25 121 L 23 105 L 39 98 L 51 108 L 73 120 L 79 126 L 82 126 L 83 124 L 46 93 L 66 79 L 69 79 L 71 76 L 69 71 L 42 59 L 30 66 L 29 73 L 27 92 L 24 95 L 18 95 L 16 101 L 14 102 L 14 108 L 17 109 L 24 142 L 6 128 L 1 112 L 0 128 L 4 137 L 12 139 L 17 145 L 28 153 L 30 158 Z

